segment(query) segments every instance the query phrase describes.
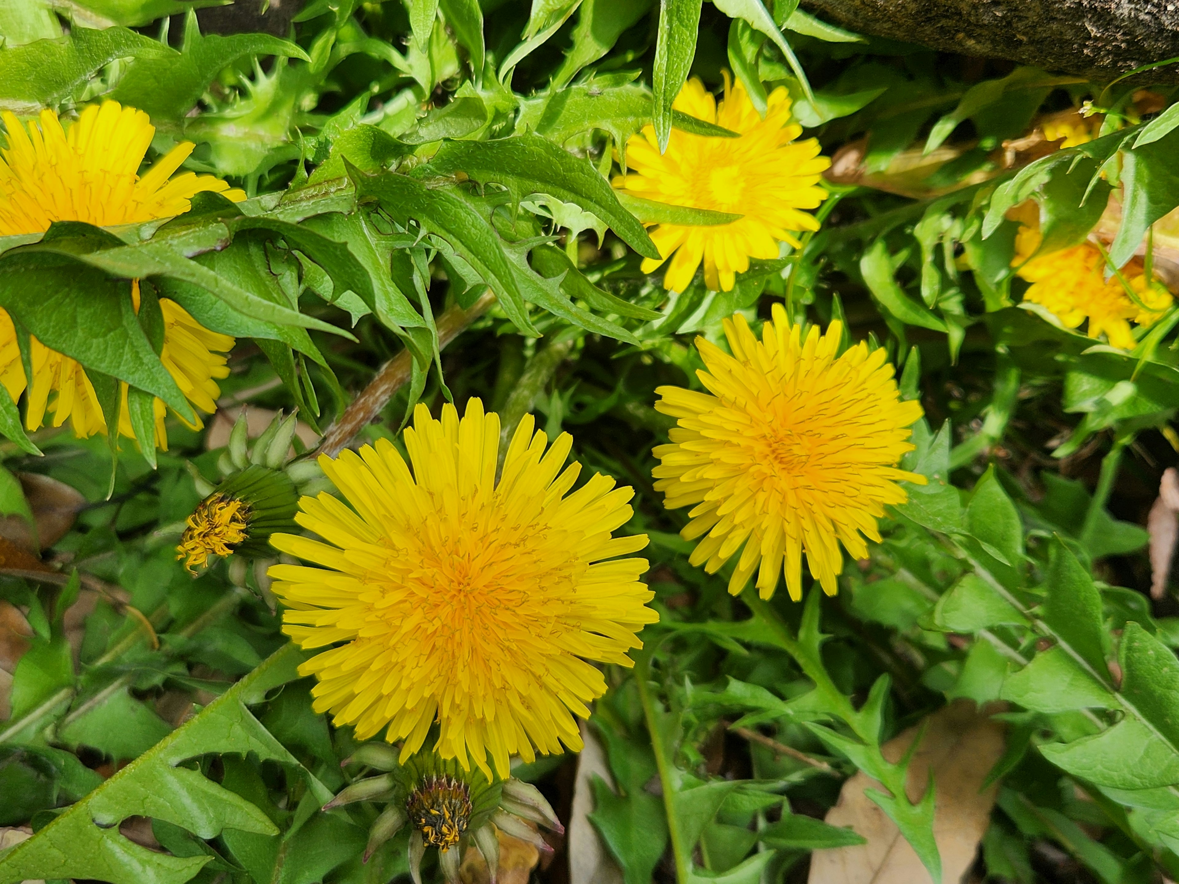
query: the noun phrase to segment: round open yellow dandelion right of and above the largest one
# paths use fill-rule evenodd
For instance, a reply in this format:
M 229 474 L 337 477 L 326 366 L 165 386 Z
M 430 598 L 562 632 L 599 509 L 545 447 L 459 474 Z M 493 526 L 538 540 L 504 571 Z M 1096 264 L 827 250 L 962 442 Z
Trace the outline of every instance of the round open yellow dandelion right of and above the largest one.
M 797 601 L 803 553 L 834 595 L 841 541 L 852 558 L 865 558 L 863 537 L 880 541 L 884 504 L 907 500 L 897 482 L 926 483 L 896 469 L 914 448 L 905 440 L 921 405 L 900 400 L 883 349 L 859 343 L 836 355 L 838 322 L 826 335 L 811 326 L 804 341 L 775 304 L 760 342 L 739 314 L 724 329 L 732 356 L 696 342 L 709 392 L 656 390 L 663 397 L 656 408 L 679 424 L 671 444 L 654 449 L 656 490 L 668 509 L 694 504 L 680 532 L 703 537 L 692 565 L 711 574 L 742 550 L 729 581 L 735 595 L 758 570 L 758 592 L 769 599 L 784 570 Z

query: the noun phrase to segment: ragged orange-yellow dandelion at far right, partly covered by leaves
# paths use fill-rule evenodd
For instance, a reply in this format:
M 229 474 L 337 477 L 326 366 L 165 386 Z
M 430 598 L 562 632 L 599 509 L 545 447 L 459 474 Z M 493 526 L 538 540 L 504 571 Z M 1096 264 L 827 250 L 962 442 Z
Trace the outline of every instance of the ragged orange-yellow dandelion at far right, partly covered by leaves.
M 1171 292 L 1161 283 L 1146 278 L 1140 259 L 1133 258 L 1121 268 L 1122 279 L 1134 292 L 1131 298 L 1117 275 L 1106 279 L 1106 259 L 1096 245 L 1086 242 L 1036 255 L 1041 242 L 1035 226 L 1039 213 L 1035 219 L 1026 212 L 1020 213 L 1017 219 L 1030 222 L 1021 225 L 1016 233 L 1012 260 L 1020 278 L 1032 283 L 1023 299 L 1040 304 L 1065 328 L 1076 329 L 1087 323 L 1089 337 L 1105 335 L 1111 347 L 1133 350 L 1137 342 L 1131 323 L 1151 325 L 1173 303 Z

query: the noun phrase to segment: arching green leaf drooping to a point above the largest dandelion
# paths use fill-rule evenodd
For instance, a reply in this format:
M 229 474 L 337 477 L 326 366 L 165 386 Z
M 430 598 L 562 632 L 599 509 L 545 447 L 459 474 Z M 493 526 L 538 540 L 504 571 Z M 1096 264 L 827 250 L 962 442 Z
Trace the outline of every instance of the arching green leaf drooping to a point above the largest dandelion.
M 447 240 L 492 288 L 515 326 L 526 335 L 539 335 L 528 319 L 515 273 L 499 236 L 474 209 L 444 190 L 426 187 L 395 172 L 368 176 L 354 170 L 353 180 L 358 194 L 376 197 L 381 207 L 395 220 L 408 224 L 413 218 L 430 233 Z

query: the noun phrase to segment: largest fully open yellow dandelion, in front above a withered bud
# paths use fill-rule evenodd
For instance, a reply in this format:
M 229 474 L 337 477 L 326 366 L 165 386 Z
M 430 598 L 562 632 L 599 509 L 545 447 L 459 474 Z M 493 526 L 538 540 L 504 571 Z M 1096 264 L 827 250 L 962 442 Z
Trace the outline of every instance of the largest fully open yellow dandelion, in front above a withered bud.
M 460 421 L 419 405 L 404 434 L 410 468 L 381 440 L 360 454 L 321 457 L 353 508 L 303 497 L 296 521 L 327 542 L 275 534 L 279 550 L 324 568 L 276 565 L 272 589 L 289 606 L 284 632 L 303 647 L 344 642 L 303 664 L 315 710 L 351 724 L 357 739 L 388 726 L 416 752 L 436 721 L 435 750 L 500 777 L 508 758 L 581 748 L 573 714 L 606 690 L 586 660 L 631 666 L 635 636 L 658 620 L 639 575 L 617 559 L 645 535 L 612 537 L 633 492 L 594 475 L 569 494 L 572 438 L 545 451 L 525 417 L 495 481 L 500 420 L 473 398 Z

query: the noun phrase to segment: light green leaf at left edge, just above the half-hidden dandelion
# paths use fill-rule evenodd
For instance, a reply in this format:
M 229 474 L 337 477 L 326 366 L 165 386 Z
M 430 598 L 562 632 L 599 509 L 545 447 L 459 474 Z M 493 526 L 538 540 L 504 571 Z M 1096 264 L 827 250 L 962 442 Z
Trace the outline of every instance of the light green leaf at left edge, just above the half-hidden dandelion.
M 0 107 L 33 113 L 72 97 L 94 72 L 124 58 L 158 61 L 179 54 L 125 27 L 75 27 L 68 37 L 6 47 L 0 52 Z

